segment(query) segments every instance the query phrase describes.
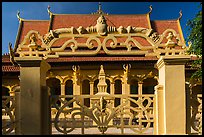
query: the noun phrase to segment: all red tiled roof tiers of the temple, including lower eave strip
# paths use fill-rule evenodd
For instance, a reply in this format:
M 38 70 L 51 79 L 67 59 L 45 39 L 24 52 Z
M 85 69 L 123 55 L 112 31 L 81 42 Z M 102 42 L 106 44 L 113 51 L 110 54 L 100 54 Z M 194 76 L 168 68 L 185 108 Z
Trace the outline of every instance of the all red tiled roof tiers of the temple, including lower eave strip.
M 50 32 L 50 30 L 56 30 L 60 28 L 79 28 L 80 26 L 87 28 L 90 26 L 94 26 L 96 24 L 97 19 L 99 18 L 99 14 L 53 14 L 48 9 L 50 14 L 50 20 L 25 20 L 19 17 L 20 24 L 19 30 L 16 38 L 16 43 L 14 47 L 14 52 L 16 52 L 18 45 L 22 43 L 26 34 L 30 30 L 35 30 L 39 32 L 40 35 L 46 35 Z M 104 14 L 103 16 L 106 19 L 106 23 L 108 26 L 114 26 L 116 28 L 123 26 L 127 28 L 128 26 L 134 27 L 141 27 L 152 29 L 161 35 L 167 29 L 173 29 L 179 34 L 182 42 L 184 42 L 180 21 L 178 19 L 173 20 L 150 20 L 150 13 L 146 14 L 128 14 L 128 15 L 107 15 Z M 80 41 L 80 40 L 79 40 Z M 82 40 L 83 41 L 83 40 Z M 119 40 L 120 41 L 120 40 Z M 137 41 L 146 46 L 149 43 L 142 39 L 137 38 Z M 165 41 L 165 40 L 164 40 Z M 167 41 L 167 40 L 166 40 Z M 65 42 L 64 40 L 58 41 L 54 46 L 61 46 Z M 103 52 L 100 52 L 104 54 Z M 66 56 L 66 57 L 59 57 L 59 58 L 48 58 L 48 62 L 85 62 L 85 61 L 153 61 L 158 60 L 155 56 L 145 56 L 145 57 L 138 57 L 138 56 Z M 8 55 L 2 56 L 2 70 L 3 72 L 15 72 L 19 71 L 18 67 L 12 67 L 8 64 L 9 57 Z M 4 65 L 5 64 L 5 65 Z

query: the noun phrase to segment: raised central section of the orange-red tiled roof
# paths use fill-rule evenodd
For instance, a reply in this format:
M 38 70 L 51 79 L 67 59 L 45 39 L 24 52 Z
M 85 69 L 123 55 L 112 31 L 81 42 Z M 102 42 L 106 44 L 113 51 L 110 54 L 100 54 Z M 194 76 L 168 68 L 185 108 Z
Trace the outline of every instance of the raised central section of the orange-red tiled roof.
M 147 15 L 104 15 L 108 26 L 135 26 L 135 27 L 148 27 Z M 83 26 L 95 26 L 96 20 L 99 15 L 90 14 L 66 14 L 66 15 L 53 15 L 53 22 L 51 28 L 66 28 Z

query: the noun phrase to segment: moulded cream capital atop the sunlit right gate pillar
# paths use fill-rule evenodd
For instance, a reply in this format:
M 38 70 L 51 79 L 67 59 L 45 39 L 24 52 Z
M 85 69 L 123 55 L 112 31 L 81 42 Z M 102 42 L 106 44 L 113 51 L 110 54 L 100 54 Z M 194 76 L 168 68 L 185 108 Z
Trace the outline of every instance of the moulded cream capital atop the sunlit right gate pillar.
M 184 65 L 190 60 L 189 55 L 185 56 L 162 56 L 155 64 L 155 68 L 160 69 L 164 65 Z

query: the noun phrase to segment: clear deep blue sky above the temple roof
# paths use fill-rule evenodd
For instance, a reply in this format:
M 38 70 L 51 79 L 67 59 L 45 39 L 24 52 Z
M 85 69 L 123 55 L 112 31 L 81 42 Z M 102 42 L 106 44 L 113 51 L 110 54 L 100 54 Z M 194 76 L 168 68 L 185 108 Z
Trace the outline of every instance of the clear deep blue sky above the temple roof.
M 177 19 L 182 10 L 181 27 L 186 39 L 188 29 L 187 21 L 193 19 L 199 11 L 200 2 L 101 2 L 102 10 L 109 14 L 145 14 L 149 6 L 153 10 L 151 20 Z M 2 3 L 2 54 L 8 53 L 8 43 L 14 46 L 19 21 L 16 17 L 24 19 L 49 20 L 47 7 L 56 14 L 89 14 L 96 12 L 98 2 L 3 2 Z

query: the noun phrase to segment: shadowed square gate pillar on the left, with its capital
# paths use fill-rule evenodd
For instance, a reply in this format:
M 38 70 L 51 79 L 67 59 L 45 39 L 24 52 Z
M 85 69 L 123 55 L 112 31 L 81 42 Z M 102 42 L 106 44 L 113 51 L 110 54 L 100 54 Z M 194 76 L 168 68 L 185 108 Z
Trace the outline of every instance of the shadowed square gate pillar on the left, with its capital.
M 46 72 L 50 65 L 41 57 L 16 57 L 20 65 L 20 134 L 51 134 Z

